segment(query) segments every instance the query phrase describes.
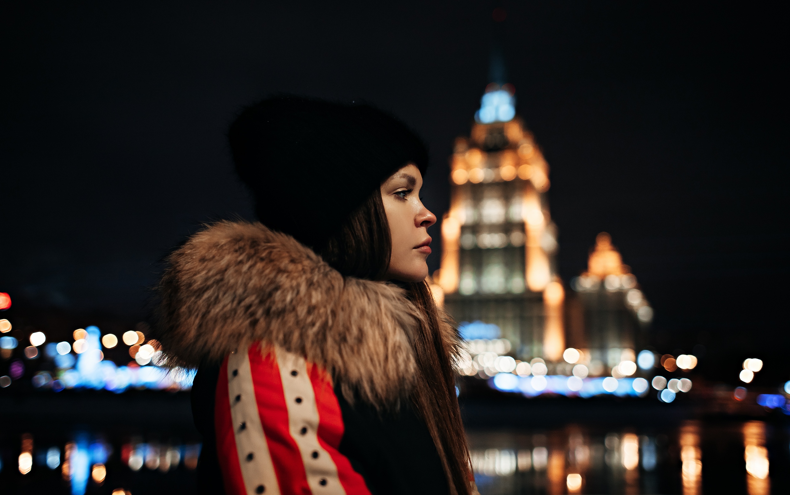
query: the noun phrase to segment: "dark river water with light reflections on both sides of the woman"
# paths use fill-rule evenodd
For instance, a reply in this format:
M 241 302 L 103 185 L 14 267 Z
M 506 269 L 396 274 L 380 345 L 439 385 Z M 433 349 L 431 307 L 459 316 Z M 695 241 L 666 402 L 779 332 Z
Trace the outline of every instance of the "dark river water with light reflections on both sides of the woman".
M 194 433 L 0 432 L 2 493 L 188 493 Z M 468 432 L 481 495 L 783 493 L 788 431 L 762 421 Z M 27 455 L 25 455 L 27 454 Z M 26 474 L 23 474 L 26 473 Z M 106 476 L 106 478 L 105 478 Z M 97 491 L 98 490 L 98 491 Z

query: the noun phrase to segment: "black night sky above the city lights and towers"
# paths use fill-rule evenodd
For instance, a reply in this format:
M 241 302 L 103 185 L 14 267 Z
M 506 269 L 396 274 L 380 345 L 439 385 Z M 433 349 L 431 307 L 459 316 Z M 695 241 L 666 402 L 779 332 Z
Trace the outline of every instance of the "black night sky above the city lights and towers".
M 423 195 L 441 216 L 498 43 L 551 167 L 563 279 L 608 231 L 656 347 L 768 358 L 786 380 L 783 18 L 687 2 L 6 2 L 0 291 L 144 317 L 168 249 L 250 218 L 224 133 L 274 92 L 399 115 L 431 145 Z

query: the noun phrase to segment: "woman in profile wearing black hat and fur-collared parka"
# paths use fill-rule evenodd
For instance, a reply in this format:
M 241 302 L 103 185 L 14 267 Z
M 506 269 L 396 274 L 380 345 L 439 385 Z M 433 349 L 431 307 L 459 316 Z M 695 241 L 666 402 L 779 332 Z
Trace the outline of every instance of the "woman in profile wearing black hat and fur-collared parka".
M 261 223 L 169 257 L 158 332 L 199 366 L 201 493 L 475 492 L 457 332 L 427 287 L 427 149 L 366 105 L 293 96 L 228 135 Z

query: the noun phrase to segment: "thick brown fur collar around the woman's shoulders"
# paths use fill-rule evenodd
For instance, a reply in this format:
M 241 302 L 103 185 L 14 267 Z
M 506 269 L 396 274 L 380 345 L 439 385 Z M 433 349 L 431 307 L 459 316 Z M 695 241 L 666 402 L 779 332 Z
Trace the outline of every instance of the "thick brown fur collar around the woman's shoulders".
M 391 403 L 411 387 L 410 336 L 423 316 L 401 288 L 344 278 L 261 223 L 215 223 L 167 261 L 156 333 L 171 366 L 219 362 L 261 341 L 322 366 L 347 397 Z M 457 332 L 442 320 L 454 354 Z

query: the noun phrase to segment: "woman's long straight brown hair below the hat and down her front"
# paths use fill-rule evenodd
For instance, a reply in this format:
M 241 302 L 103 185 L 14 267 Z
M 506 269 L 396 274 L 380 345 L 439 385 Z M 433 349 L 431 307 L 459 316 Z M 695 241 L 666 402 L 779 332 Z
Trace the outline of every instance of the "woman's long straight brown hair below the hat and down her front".
M 344 276 L 382 280 L 389 268 L 392 238 L 378 189 L 348 216 L 318 253 Z M 471 482 L 469 452 L 455 394 L 455 373 L 442 336 L 438 309 L 427 282 L 400 283 L 408 298 L 425 315 L 412 347 L 419 370 L 410 399 L 431 432 L 442 459 L 450 493 L 468 495 Z

